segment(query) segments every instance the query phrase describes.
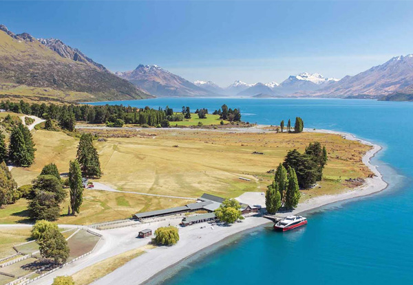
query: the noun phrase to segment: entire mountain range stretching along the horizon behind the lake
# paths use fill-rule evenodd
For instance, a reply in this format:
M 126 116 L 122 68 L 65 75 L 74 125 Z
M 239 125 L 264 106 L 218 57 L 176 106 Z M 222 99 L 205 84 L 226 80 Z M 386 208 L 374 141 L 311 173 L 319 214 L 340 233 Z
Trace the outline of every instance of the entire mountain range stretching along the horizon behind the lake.
M 14 34 L 0 25 L 0 95 L 75 102 L 153 95 L 413 100 L 413 54 L 396 56 L 341 80 L 304 72 L 279 84 L 236 80 L 228 87 L 220 87 L 211 81 L 190 82 L 157 65 L 138 65 L 131 71 L 112 73 L 59 39 Z

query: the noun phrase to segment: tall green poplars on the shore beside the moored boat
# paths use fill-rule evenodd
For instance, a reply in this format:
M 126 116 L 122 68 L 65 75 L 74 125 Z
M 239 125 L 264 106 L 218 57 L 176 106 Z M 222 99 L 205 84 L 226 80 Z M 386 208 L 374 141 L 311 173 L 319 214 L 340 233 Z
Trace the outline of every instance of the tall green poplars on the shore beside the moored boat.
M 274 181 L 268 185 L 265 195 L 267 212 L 275 214 L 280 207 L 293 209 L 297 207 L 300 196 L 295 170 L 291 167 L 285 168 L 279 163 Z

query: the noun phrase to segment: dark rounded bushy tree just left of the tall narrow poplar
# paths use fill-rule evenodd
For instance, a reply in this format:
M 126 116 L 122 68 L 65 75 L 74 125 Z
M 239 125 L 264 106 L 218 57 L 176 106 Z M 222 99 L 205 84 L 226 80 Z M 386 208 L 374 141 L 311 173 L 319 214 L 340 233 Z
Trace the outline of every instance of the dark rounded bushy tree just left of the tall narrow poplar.
M 28 210 L 30 218 L 34 220 L 57 220 L 60 216 L 59 203 L 53 192 L 36 190 Z

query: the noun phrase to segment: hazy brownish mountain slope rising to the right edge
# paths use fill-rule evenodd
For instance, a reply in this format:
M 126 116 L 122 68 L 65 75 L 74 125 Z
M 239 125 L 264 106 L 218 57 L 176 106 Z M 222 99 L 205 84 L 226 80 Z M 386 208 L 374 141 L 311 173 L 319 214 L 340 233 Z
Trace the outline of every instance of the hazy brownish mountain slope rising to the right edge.
M 413 54 L 396 56 L 355 76 L 328 84 L 311 95 L 348 97 L 372 95 L 377 98 L 396 92 L 406 93 L 413 85 Z

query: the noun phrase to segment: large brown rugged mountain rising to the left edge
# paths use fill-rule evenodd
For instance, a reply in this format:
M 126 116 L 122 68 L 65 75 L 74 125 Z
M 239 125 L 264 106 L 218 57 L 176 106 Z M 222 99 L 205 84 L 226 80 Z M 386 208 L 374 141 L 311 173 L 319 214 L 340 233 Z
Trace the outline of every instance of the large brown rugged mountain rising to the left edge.
M 0 93 L 76 102 L 153 97 L 62 41 L 14 34 L 4 25 Z

